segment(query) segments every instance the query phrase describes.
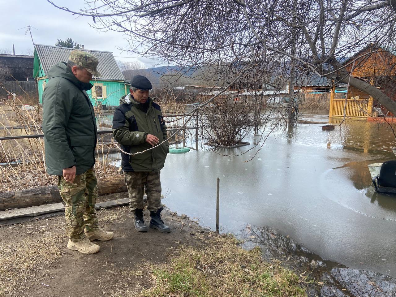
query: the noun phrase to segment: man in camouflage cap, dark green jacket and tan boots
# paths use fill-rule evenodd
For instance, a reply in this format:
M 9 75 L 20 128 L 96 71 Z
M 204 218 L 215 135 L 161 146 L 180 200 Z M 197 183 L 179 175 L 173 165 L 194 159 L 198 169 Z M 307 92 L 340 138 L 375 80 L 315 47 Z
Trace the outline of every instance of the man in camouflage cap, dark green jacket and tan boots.
M 91 240 L 110 240 L 113 232 L 99 228 L 95 210 L 98 194 L 94 171 L 97 142 L 96 119 L 87 90 L 97 71 L 98 59 L 73 50 L 69 62 L 48 71 L 43 93 L 43 131 L 47 172 L 58 176 L 65 205 L 67 247 L 81 253 L 97 253 Z

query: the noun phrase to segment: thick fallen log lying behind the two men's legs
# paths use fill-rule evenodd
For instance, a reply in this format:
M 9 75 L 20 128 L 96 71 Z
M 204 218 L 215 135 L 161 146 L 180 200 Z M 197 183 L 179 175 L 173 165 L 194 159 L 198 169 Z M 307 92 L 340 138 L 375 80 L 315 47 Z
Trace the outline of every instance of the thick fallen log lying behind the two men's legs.
M 98 179 L 98 195 L 126 192 L 122 175 Z M 0 193 L 0 210 L 62 202 L 57 185 Z

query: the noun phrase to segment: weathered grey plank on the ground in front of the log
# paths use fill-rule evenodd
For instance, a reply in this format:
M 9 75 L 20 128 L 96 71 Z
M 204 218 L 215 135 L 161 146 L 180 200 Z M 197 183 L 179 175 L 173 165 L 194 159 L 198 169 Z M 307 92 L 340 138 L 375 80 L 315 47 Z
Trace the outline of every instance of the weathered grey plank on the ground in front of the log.
M 95 209 L 124 206 L 127 204 L 129 204 L 129 198 L 122 198 L 111 201 L 98 202 L 95 205 Z M 53 203 L 53 204 L 32 206 L 21 209 L 4 210 L 4 211 L 0 211 L 0 221 L 15 219 L 19 217 L 35 217 L 37 215 L 42 215 L 45 213 L 54 213 L 64 210 L 65 207 L 63 206 L 62 203 Z

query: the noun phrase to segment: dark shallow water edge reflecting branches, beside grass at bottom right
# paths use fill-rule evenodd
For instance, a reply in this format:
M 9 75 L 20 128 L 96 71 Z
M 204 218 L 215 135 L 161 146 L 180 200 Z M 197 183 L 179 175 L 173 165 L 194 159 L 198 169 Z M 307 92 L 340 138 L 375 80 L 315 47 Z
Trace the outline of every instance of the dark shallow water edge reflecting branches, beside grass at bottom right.
M 251 227 L 242 232 L 246 247 L 258 244 L 263 256 L 278 259 L 289 268 L 305 273 L 316 280 L 317 286 L 309 286 L 308 296 L 319 297 L 392 297 L 396 296 L 396 279 L 381 273 L 352 269 L 326 261 L 282 236 L 271 228 Z

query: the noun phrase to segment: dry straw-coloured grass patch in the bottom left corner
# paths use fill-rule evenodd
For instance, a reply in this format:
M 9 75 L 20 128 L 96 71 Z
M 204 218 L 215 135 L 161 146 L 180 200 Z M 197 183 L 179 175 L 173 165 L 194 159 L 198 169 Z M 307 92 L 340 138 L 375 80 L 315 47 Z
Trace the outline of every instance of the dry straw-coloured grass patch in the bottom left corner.
M 34 231 L 18 244 L 0 244 L 0 296 L 23 294 L 25 284 L 38 282 L 48 274 L 49 264 L 61 257 L 59 246 L 63 235 L 48 232 L 48 228 Z

